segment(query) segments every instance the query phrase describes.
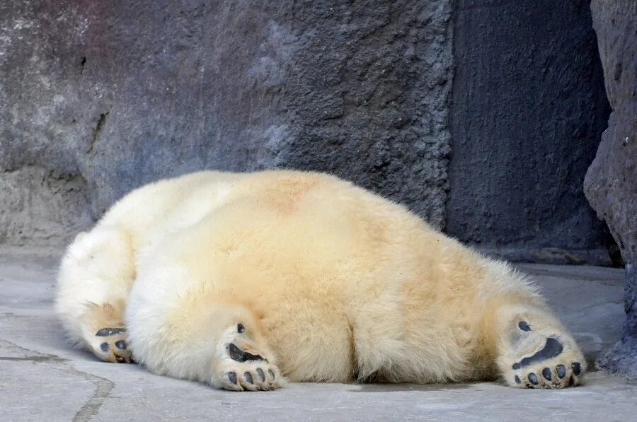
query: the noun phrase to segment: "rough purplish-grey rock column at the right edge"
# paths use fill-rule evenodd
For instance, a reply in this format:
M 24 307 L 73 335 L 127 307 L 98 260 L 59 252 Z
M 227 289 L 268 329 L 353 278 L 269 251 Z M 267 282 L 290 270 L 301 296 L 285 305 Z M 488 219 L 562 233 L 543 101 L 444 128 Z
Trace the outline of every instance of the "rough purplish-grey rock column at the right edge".
M 585 192 L 617 241 L 628 277 L 624 333 L 597 364 L 637 377 L 637 1 L 593 0 L 591 10 L 613 112 Z

